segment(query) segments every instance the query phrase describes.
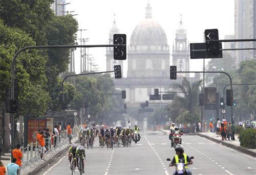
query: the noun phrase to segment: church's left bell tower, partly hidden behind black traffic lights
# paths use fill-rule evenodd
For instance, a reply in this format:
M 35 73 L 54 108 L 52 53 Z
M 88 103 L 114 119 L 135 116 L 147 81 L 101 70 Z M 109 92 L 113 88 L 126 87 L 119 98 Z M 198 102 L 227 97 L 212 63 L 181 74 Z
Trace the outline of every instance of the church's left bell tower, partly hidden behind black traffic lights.
M 110 29 L 109 33 L 109 43 L 108 44 L 113 44 L 113 35 L 114 34 L 119 34 L 119 29 L 116 26 L 116 18 L 114 14 L 114 21 L 113 25 Z M 114 65 L 121 65 L 121 70 L 122 70 L 122 75 L 123 75 L 123 61 L 119 60 L 114 60 L 114 54 L 113 54 L 113 47 L 106 47 L 106 71 L 111 71 L 114 70 Z M 114 74 L 111 74 L 111 77 L 114 77 Z

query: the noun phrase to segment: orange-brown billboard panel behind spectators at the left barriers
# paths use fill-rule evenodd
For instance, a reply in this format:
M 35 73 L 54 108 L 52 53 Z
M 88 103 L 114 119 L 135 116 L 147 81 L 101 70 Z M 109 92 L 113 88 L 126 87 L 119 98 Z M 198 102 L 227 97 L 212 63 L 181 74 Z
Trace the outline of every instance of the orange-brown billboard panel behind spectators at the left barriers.
M 38 129 L 46 128 L 46 119 L 28 119 L 28 143 L 36 141 Z

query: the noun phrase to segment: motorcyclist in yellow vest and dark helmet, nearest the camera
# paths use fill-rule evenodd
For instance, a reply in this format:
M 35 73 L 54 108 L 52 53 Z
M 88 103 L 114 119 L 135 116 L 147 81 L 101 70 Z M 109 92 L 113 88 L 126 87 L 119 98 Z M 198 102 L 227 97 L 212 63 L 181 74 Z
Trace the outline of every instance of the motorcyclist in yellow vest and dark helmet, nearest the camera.
M 177 163 L 184 163 L 186 164 L 193 164 L 193 161 L 186 155 L 184 154 L 184 148 L 181 144 L 178 144 L 177 147 L 175 148 L 176 155 L 173 158 L 173 161 L 169 164 L 169 166 L 174 166 Z M 189 171 L 188 166 L 185 166 L 186 174 L 192 174 L 191 171 Z M 174 173 L 175 174 L 175 173 Z

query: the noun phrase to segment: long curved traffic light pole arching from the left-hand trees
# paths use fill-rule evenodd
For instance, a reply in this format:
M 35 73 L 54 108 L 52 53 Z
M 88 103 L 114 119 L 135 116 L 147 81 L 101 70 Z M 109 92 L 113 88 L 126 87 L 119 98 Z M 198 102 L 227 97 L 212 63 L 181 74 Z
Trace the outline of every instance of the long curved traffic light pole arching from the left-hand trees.
M 40 48 L 77 48 L 77 47 L 116 47 L 116 46 L 125 46 L 126 44 L 100 44 L 100 45 L 36 45 L 36 46 L 27 46 L 20 48 L 18 52 L 14 55 L 11 66 L 11 99 L 14 99 L 14 81 L 15 81 L 15 65 L 17 56 L 28 49 L 40 49 Z M 11 148 L 15 147 L 14 145 L 14 114 L 10 113 L 11 117 Z

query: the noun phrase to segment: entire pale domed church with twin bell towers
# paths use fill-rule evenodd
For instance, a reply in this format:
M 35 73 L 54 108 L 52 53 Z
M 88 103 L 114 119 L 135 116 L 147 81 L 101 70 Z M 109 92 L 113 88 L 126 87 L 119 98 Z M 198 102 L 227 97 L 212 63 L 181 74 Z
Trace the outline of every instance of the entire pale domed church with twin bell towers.
M 110 30 L 110 44 L 113 43 L 114 33 L 120 33 L 115 20 Z M 172 57 L 173 65 L 177 65 L 178 70 L 189 71 L 189 48 L 182 21 L 176 31 Z M 150 3 L 147 3 L 145 8 L 145 18 L 139 22 L 131 35 L 127 47 L 127 62 L 127 78 L 113 79 L 117 89 L 126 90 L 126 103 L 138 104 L 148 101 L 155 88 L 160 92 L 170 91 L 170 85 L 181 83 L 183 77 L 195 81 L 195 78 L 189 78 L 186 73 L 178 73 L 177 80 L 169 79 L 170 48 L 163 28 L 152 16 Z M 121 64 L 123 69 L 122 61 L 113 59 L 113 48 L 107 48 L 106 70 L 113 70 L 115 64 Z

